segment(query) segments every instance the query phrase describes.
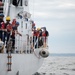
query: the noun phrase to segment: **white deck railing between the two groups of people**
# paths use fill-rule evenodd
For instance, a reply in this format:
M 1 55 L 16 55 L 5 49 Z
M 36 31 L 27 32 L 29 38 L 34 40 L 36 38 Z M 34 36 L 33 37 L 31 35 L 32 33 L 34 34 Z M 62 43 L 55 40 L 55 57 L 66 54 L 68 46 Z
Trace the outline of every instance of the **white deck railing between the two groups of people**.
M 30 54 L 33 52 L 32 48 L 32 37 L 29 35 L 25 35 L 25 37 L 20 37 L 16 38 L 16 47 L 17 49 L 15 50 L 15 53 L 17 52 L 18 54 L 20 53 L 25 53 L 25 54 Z

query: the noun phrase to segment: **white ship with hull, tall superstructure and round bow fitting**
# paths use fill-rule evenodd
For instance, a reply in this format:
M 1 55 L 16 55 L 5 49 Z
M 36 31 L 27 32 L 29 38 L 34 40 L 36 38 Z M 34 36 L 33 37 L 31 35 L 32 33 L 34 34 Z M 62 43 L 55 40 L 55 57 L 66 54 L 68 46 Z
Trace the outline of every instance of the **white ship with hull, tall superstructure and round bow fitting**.
M 11 40 L 8 42 L 8 48 L 3 46 L 4 52 L 0 53 L 0 75 L 32 75 L 41 67 L 44 57 L 49 55 L 48 47 L 39 48 L 37 45 L 35 48 L 38 39 L 33 46 L 28 0 L 15 1 L 18 1 L 18 5 L 13 5 L 11 0 L 3 0 L 4 21 L 7 16 L 10 16 L 11 23 L 16 19 L 20 24 L 18 31 L 22 36 L 15 33 L 14 49 L 11 48 Z M 7 53 L 6 50 L 9 52 Z

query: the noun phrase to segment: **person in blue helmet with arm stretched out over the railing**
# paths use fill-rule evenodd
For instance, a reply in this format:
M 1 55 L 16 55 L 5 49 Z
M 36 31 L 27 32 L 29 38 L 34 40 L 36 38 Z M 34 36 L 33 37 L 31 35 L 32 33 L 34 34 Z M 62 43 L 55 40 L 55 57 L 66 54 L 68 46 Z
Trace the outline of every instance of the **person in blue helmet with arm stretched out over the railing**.
M 15 26 L 12 27 L 12 35 L 11 35 L 11 38 L 12 38 L 12 48 L 14 48 L 15 46 L 15 33 L 19 34 L 20 36 L 22 36 L 19 32 L 18 32 L 18 26 L 19 26 L 19 22 L 16 22 L 15 23 Z

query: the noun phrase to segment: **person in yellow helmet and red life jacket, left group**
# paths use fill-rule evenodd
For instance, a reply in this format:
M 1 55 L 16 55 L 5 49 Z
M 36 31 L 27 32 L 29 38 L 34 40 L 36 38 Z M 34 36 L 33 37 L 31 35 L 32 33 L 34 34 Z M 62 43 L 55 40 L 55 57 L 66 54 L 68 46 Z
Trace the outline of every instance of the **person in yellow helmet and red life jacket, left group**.
M 6 17 L 6 23 L 5 23 L 5 27 L 7 29 L 7 32 L 6 32 L 6 37 L 7 37 L 7 40 L 6 40 L 6 48 L 7 48 L 7 43 L 9 41 L 9 38 L 11 36 L 11 31 L 12 31 L 12 25 L 10 23 L 10 17 Z

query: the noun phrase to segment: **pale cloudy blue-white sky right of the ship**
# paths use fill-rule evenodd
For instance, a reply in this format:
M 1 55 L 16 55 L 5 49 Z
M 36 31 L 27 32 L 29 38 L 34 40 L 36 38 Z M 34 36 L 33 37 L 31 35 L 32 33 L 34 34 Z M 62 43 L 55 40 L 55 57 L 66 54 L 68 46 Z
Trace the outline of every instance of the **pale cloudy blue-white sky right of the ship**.
M 75 53 L 75 0 L 29 0 L 29 11 L 49 31 L 50 53 Z

